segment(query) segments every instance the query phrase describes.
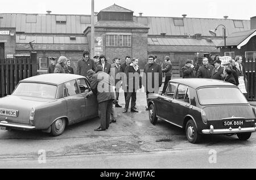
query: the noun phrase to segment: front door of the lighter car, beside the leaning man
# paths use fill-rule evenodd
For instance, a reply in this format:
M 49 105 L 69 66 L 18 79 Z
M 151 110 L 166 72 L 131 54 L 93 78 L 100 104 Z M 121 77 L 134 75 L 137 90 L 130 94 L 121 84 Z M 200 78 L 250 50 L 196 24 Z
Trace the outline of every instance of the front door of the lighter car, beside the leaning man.
M 84 96 L 85 100 L 84 118 L 88 119 L 96 117 L 98 115 L 97 96 L 92 94 L 91 96 L 85 98 L 86 95 L 90 92 L 89 82 L 85 78 L 80 78 L 77 82 L 79 84 L 81 94 Z

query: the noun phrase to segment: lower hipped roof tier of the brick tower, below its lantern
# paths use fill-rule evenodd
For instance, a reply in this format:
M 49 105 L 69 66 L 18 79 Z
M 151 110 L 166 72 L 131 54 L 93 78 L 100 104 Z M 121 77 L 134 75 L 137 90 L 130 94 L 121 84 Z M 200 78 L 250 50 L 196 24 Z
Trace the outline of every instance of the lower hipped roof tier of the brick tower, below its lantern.
M 147 25 L 143 25 L 137 22 L 126 22 L 126 21 L 103 21 L 100 20 L 95 24 L 95 27 L 104 27 L 104 28 L 143 28 L 149 29 Z

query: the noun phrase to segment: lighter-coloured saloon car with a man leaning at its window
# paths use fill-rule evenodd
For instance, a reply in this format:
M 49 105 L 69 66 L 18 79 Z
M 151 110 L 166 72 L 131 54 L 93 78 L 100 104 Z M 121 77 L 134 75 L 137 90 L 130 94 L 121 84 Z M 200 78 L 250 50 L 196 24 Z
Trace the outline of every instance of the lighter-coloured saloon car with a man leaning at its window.
M 0 98 L 1 130 L 43 130 L 61 135 L 65 126 L 98 116 L 96 96 L 85 98 L 90 83 L 84 76 L 44 74 L 19 82 Z

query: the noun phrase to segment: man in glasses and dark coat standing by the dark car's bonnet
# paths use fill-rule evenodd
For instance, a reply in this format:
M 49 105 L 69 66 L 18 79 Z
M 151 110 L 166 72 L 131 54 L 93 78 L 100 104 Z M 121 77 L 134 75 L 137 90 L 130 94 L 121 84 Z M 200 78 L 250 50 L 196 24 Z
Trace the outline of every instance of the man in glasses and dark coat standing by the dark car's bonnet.
M 154 62 L 155 56 L 148 56 L 148 63 L 144 67 L 144 74 L 146 75 L 146 98 L 148 99 L 148 93 L 158 93 L 159 87 L 162 85 L 162 68 L 161 66 Z M 148 106 L 146 106 L 148 110 Z

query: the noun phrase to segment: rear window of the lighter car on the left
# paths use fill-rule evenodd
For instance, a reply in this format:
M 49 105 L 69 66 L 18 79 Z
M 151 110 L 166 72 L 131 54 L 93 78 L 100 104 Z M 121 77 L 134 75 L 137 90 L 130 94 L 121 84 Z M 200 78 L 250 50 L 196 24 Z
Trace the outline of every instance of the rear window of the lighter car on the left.
M 19 83 L 12 95 L 55 99 L 57 86 L 42 83 Z

